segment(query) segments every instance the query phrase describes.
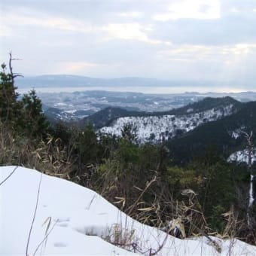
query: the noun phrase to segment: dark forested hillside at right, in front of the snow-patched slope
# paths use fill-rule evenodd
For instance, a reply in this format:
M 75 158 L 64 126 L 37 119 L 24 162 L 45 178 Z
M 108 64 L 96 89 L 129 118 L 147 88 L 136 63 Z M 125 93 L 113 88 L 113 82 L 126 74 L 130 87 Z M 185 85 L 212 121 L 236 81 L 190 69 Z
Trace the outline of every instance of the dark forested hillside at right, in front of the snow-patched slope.
M 188 162 L 212 148 L 228 156 L 245 148 L 242 131 L 256 133 L 256 102 L 244 103 L 236 113 L 170 140 L 168 147 L 177 163 Z

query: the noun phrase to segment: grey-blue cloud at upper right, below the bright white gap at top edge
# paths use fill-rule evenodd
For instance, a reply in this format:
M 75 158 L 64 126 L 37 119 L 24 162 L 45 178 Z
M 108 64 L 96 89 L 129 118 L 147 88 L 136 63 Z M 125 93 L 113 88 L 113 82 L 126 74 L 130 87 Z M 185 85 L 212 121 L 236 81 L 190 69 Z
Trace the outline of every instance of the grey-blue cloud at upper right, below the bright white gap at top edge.
M 245 44 L 256 41 L 255 17 L 223 17 L 218 20 L 175 20 L 158 23 L 151 38 L 173 44 Z

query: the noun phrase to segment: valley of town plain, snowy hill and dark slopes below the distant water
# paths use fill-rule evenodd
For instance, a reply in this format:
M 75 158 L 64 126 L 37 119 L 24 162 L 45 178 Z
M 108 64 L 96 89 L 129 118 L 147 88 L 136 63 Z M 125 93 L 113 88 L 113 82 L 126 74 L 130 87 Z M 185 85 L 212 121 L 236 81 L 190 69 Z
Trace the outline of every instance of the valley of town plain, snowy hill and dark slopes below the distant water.
M 98 133 L 117 137 L 126 126 L 136 143 L 166 144 L 178 164 L 212 146 L 226 158 L 233 156 L 245 147 L 236 131 L 256 133 L 251 118 L 256 93 L 251 92 L 164 95 L 90 90 L 38 95 L 52 123 L 62 120 L 81 129 L 90 123 Z

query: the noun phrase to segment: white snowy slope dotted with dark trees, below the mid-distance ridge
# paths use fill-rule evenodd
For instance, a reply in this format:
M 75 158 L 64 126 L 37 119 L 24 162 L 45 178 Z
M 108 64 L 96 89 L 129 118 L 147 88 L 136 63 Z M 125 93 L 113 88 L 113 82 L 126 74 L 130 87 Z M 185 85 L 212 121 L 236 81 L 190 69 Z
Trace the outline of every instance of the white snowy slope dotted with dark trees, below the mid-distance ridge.
M 184 115 L 159 115 L 148 117 L 120 117 L 111 126 L 100 129 L 101 133 L 110 133 L 121 136 L 123 126 L 130 123 L 136 128 L 138 140 L 144 142 L 160 142 L 172 139 L 178 133 L 186 133 L 202 123 L 218 120 L 221 117 L 233 114 L 233 105 L 224 108 L 212 108 L 200 113 Z

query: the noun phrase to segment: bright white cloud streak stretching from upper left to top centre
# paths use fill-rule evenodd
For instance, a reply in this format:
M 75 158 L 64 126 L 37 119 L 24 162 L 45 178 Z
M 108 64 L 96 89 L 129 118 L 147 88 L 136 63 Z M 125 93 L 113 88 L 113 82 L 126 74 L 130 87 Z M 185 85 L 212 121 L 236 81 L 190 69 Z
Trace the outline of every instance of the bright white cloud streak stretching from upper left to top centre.
M 120 13 L 122 17 L 131 17 L 139 13 Z M 148 44 L 170 44 L 168 41 L 160 41 L 148 37 L 148 32 L 153 30 L 153 26 L 142 23 L 108 23 L 100 26 L 86 23 L 82 20 L 66 17 L 53 17 L 37 12 L 30 16 L 25 14 L 7 13 L 2 17 L 4 22 L 11 20 L 11 26 L 43 27 L 45 29 L 63 30 L 66 32 L 93 34 L 101 33 L 104 40 L 123 39 L 143 41 Z M 1 32 L 1 31 L 0 31 Z M 44 44 L 46 45 L 46 43 Z

